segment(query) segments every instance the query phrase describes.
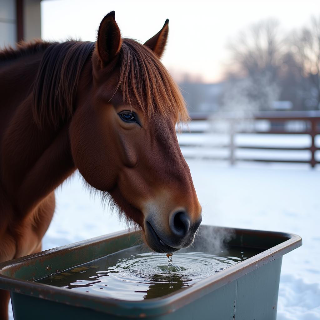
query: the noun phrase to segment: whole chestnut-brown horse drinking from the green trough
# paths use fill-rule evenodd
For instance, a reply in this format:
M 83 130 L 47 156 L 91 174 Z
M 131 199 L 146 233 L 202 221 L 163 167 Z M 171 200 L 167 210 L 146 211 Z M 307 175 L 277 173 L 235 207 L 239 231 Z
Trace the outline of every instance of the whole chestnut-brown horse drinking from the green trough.
M 153 251 L 192 244 L 201 206 L 176 136 L 188 112 L 160 61 L 168 30 L 122 38 L 112 11 L 95 42 L 0 52 L 0 262 L 41 251 L 54 190 L 76 170 Z M 8 301 L 0 290 L 1 319 Z

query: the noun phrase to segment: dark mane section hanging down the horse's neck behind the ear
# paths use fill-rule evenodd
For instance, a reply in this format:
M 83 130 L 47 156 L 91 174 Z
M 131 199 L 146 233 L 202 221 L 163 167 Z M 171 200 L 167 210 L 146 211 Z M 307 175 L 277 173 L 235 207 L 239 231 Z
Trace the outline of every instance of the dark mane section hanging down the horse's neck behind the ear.
M 59 126 L 73 113 L 81 70 L 94 42 L 53 43 L 44 52 L 32 92 L 32 112 L 41 126 Z

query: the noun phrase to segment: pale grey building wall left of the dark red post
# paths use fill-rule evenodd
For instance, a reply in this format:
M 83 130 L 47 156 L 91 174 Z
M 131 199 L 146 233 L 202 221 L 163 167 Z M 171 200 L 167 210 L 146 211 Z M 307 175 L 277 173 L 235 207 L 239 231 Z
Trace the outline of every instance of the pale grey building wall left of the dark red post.
M 14 45 L 17 39 L 16 2 L 0 0 L 0 48 Z

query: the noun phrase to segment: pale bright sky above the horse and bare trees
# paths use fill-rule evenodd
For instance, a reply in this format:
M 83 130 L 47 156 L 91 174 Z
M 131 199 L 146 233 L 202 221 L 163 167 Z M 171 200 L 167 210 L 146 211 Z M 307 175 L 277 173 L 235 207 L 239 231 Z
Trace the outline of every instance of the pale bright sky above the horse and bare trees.
M 320 15 L 318 0 L 179 1 L 45 0 L 41 3 L 45 40 L 94 41 L 100 21 L 115 10 L 122 36 L 145 42 L 169 19 L 164 65 L 174 74 L 192 73 L 217 82 L 228 62 L 226 44 L 239 30 L 261 19 L 276 18 L 284 31 Z

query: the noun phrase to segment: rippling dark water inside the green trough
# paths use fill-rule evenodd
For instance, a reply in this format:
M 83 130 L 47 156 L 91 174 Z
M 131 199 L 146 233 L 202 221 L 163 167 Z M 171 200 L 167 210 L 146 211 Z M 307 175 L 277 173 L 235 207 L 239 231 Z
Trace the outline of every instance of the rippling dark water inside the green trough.
M 37 282 L 86 294 L 143 300 L 185 288 L 261 251 L 231 248 L 213 254 L 180 250 L 174 253 L 174 263 L 171 256 L 166 263 L 165 255 L 145 252 L 141 246 L 135 246 Z

